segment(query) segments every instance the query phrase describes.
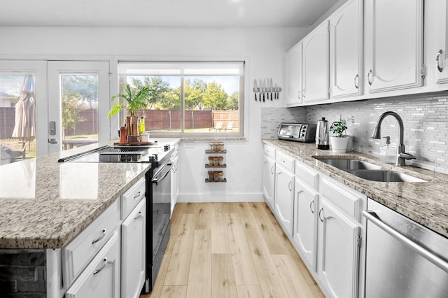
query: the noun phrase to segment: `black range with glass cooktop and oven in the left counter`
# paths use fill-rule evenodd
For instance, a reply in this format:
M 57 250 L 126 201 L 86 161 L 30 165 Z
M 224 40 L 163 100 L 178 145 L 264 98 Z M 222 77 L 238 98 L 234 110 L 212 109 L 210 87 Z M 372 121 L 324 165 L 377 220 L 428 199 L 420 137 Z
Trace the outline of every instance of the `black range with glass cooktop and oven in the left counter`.
M 151 146 L 103 146 L 59 159 L 59 162 L 151 162 L 146 172 L 146 283 L 153 289 L 167 248 L 171 227 L 171 155 L 174 148 L 155 143 Z M 150 250 L 150 248 L 152 248 Z

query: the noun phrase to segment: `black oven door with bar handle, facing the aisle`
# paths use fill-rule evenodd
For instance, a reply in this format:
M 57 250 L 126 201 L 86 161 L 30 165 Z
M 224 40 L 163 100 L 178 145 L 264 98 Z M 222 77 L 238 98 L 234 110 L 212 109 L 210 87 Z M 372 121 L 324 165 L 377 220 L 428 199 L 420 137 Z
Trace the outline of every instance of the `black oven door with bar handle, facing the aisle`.
M 153 193 L 153 259 L 151 265 L 151 289 L 154 286 L 169 239 L 171 213 L 172 162 L 159 166 L 151 180 Z

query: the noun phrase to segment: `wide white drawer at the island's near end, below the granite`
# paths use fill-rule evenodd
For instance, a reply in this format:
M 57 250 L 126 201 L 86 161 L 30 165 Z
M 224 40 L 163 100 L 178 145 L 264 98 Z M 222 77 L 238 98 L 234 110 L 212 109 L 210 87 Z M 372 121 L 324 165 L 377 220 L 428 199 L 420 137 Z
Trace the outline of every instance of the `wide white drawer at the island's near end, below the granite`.
M 119 225 L 120 205 L 117 200 L 83 232 L 80 232 L 73 241 L 62 248 L 64 285 L 69 286 L 73 283 Z

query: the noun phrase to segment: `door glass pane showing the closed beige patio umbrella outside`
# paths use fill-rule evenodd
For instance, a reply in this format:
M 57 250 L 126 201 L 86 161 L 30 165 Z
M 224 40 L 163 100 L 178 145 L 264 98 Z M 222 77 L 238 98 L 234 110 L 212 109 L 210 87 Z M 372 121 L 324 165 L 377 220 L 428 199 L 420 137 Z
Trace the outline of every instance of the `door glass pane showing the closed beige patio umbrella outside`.
M 35 73 L 0 73 L 0 164 L 36 157 L 35 82 Z

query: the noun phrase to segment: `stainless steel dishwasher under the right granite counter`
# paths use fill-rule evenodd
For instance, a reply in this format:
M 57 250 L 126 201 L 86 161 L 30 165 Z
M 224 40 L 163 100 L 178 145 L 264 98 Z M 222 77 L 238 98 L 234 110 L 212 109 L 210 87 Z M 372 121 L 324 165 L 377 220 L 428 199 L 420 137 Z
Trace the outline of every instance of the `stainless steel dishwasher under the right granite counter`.
M 367 200 L 365 297 L 448 297 L 448 239 Z

